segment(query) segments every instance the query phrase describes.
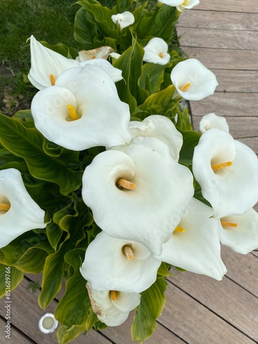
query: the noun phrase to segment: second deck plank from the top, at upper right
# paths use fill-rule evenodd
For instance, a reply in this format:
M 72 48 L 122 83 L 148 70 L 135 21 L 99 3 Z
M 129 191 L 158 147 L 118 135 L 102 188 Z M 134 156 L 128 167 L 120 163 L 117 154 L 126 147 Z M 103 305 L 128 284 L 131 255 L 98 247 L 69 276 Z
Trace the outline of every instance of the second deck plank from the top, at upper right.
M 258 31 L 257 14 L 215 12 L 209 10 L 185 11 L 179 18 L 177 28 L 201 28 L 213 30 Z

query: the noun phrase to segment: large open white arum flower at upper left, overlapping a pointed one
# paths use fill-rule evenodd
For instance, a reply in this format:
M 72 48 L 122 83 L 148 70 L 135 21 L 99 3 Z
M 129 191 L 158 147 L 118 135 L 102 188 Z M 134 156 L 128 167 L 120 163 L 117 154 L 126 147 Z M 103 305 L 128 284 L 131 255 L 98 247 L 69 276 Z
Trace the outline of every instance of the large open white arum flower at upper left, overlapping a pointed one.
M 110 147 L 131 140 L 129 105 L 119 99 L 111 77 L 94 65 L 67 69 L 55 86 L 34 96 L 31 109 L 43 136 L 67 149 Z

